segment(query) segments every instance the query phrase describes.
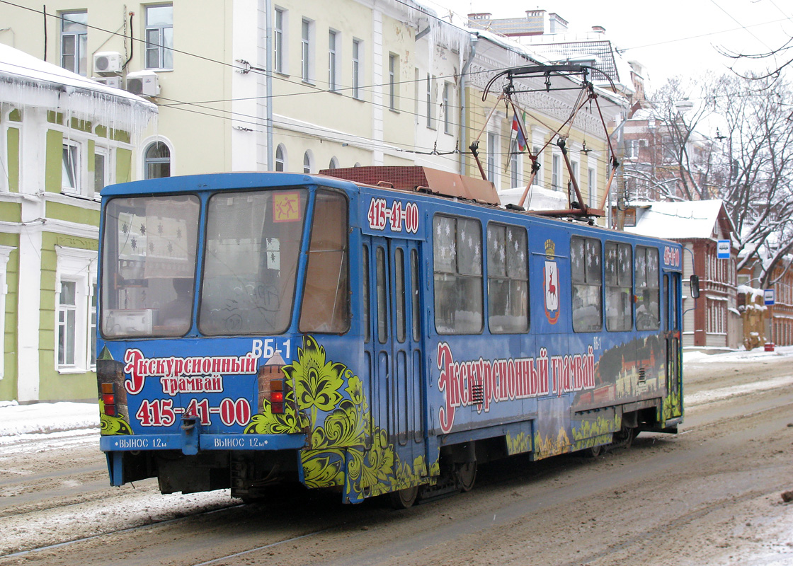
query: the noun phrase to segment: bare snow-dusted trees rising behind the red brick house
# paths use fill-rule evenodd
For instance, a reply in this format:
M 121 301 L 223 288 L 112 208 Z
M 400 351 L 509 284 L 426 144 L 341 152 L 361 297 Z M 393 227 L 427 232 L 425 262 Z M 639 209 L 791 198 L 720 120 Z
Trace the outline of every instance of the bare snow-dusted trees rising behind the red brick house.
M 626 178 L 654 197 L 720 198 L 736 228 L 738 269 L 760 267 L 760 284 L 793 250 L 793 91 L 780 77 L 673 78 L 651 98 L 647 159 L 626 160 Z M 691 101 L 690 109 L 681 101 Z M 718 135 L 700 132 L 718 127 Z

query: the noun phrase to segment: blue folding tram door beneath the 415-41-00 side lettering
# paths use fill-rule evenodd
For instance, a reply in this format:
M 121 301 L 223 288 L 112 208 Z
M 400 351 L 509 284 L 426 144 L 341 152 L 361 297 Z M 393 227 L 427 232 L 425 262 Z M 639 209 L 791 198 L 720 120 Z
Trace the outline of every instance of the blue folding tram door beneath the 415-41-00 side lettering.
M 364 246 L 367 252 L 372 424 L 386 431 L 400 461 L 412 466 L 416 457 L 426 456 L 419 245 L 412 240 L 370 237 Z

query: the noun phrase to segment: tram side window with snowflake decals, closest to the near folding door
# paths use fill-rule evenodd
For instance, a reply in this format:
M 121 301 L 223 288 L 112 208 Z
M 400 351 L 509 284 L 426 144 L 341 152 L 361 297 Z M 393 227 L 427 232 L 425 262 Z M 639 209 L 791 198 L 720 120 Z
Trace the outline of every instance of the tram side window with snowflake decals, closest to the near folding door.
M 484 321 L 481 226 L 477 220 L 438 215 L 433 230 L 435 329 L 479 333 Z

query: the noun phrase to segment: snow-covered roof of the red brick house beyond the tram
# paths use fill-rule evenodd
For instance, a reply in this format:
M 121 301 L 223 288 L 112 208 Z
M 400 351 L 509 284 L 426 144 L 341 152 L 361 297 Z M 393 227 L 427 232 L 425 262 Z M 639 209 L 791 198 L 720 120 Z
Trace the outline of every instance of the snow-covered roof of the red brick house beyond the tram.
M 721 200 L 684 202 L 633 203 L 636 207 L 636 226 L 626 232 L 657 238 L 711 238 L 718 221 Z

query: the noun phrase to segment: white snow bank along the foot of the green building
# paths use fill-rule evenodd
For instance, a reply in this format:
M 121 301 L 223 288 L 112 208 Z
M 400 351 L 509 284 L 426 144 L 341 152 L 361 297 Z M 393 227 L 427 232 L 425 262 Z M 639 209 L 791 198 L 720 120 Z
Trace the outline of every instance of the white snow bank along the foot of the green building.
M 0 402 L 0 436 L 90 428 L 99 428 L 99 407 L 95 403 Z

